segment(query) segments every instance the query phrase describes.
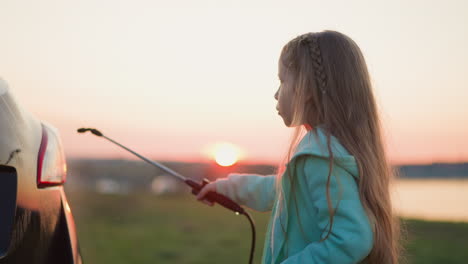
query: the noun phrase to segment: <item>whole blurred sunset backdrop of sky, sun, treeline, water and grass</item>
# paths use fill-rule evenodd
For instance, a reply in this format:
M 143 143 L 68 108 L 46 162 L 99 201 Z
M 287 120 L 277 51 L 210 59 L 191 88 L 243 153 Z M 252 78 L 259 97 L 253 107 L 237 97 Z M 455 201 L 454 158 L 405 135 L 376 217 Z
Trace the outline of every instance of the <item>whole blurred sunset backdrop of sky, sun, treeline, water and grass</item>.
M 350 36 L 371 74 L 410 263 L 466 263 L 466 1 L 2 0 L 0 77 L 57 127 L 87 263 L 240 263 L 248 222 L 95 127 L 196 180 L 273 174 L 291 129 L 275 110 L 281 48 Z M 269 213 L 252 212 L 260 260 Z

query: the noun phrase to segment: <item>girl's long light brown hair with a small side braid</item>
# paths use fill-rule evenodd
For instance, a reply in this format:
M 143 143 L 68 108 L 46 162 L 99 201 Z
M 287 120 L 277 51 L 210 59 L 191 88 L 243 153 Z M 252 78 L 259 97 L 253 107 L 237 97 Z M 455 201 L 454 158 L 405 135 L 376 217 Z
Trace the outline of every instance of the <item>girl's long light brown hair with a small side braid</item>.
M 327 135 L 330 163 L 326 193 L 330 224 L 327 235 L 320 242 L 330 235 L 337 210 L 332 206 L 329 192 L 334 162 L 330 145 L 333 135 L 355 157 L 359 168 L 359 195 L 374 232 L 374 245 L 365 259 L 366 263 L 398 263 L 400 224 L 392 211 L 389 190 L 391 179 L 397 172 L 386 157 L 378 109 L 361 50 L 348 36 L 325 30 L 303 34 L 289 41 L 281 51 L 280 63 L 294 80 L 292 123 L 297 125 L 282 164 L 290 161 L 300 141 L 304 132 L 301 124 L 308 124 L 312 129 L 320 124 Z M 276 181 L 279 210 L 284 196 L 281 177 L 285 171 L 288 172 L 298 212 L 294 177 L 281 164 Z

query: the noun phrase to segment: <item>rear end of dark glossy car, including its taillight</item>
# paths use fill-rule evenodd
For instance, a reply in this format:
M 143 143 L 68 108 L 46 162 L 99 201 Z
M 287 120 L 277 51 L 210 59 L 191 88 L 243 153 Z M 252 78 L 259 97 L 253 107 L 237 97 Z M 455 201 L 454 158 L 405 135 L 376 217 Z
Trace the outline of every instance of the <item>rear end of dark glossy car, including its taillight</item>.
M 59 133 L 0 79 L 0 263 L 82 263 Z

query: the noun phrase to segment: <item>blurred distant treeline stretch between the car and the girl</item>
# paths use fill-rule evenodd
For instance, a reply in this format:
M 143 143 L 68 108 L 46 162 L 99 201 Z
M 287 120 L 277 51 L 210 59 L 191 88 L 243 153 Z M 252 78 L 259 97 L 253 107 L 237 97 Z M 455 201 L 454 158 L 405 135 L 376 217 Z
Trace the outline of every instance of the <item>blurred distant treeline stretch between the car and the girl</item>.
M 236 164 L 222 167 L 215 163 L 185 163 L 162 161 L 162 165 L 173 171 L 196 181 L 207 178 L 213 181 L 224 178 L 229 173 L 255 173 L 261 175 L 274 174 L 276 168 L 270 165 Z M 128 190 L 148 190 L 151 183 L 159 176 L 168 175 L 167 172 L 156 168 L 144 161 L 118 159 L 71 159 L 67 160 L 67 186 L 76 189 L 95 189 L 102 180 L 111 180 L 121 188 Z M 181 188 L 185 183 L 178 181 Z M 183 187 L 182 187 L 183 186 Z

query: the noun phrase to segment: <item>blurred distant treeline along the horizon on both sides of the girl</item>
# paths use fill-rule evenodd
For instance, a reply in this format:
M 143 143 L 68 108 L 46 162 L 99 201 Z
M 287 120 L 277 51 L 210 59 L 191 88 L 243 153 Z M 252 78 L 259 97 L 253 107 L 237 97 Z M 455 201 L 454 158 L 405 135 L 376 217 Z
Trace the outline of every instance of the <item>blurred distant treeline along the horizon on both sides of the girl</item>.
M 268 164 L 236 164 L 221 167 L 209 163 L 161 162 L 172 170 L 195 180 L 226 177 L 229 173 L 275 174 L 277 168 Z M 137 160 L 69 160 L 69 174 L 85 181 L 110 177 L 127 182 L 148 182 L 157 175 L 167 174 L 144 161 Z M 395 166 L 402 178 L 468 178 L 468 163 L 432 163 Z

